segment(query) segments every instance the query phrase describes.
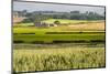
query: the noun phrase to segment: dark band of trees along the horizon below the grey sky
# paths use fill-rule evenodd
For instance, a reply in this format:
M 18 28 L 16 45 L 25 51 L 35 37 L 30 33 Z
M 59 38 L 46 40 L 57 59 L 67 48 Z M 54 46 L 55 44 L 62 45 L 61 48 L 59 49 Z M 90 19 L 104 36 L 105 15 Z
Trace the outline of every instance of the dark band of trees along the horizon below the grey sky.
M 26 19 L 23 22 L 41 22 L 47 19 L 69 19 L 69 20 L 105 20 L 105 13 L 99 14 L 91 11 L 86 11 L 81 13 L 80 11 L 70 11 L 70 12 L 26 12 Z

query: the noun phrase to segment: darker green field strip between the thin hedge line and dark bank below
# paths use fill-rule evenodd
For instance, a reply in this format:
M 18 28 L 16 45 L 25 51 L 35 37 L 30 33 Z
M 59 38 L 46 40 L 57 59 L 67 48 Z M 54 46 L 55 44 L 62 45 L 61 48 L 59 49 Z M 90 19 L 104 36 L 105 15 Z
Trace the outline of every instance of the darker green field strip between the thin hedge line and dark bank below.
M 105 34 L 18 34 L 14 35 L 14 42 L 23 43 L 52 43 L 53 41 L 105 41 Z

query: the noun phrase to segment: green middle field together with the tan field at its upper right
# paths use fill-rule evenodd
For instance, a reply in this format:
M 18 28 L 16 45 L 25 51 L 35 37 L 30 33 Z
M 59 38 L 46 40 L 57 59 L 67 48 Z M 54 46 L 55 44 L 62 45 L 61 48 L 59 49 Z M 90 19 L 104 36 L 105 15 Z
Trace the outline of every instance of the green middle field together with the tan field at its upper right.
M 73 24 L 74 25 L 74 24 Z M 55 33 L 57 32 L 57 33 Z M 50 28 L 19 27 L 13 28 L 13 38 L 18 42 L 53 41 L 105 41 L 105 23 L 59 25 Z

